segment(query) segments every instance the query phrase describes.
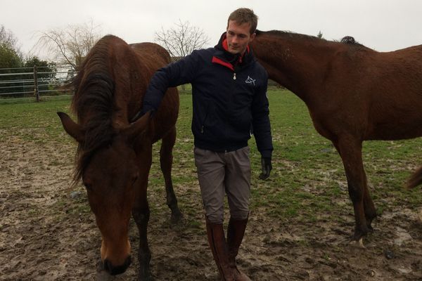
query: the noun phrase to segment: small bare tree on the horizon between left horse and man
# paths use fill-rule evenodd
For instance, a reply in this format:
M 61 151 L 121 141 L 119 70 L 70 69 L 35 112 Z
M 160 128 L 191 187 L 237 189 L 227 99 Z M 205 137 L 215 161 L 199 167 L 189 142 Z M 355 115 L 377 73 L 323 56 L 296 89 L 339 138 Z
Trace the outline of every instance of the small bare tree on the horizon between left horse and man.
M 176 27 L 155 32 L 155 41 L 169 51 L 173 60 L 184 58 L 193 50 L 203 48 L 210 41 L 205 32 L 199 27 L 192 26 L 190 22 L 179 20 Z

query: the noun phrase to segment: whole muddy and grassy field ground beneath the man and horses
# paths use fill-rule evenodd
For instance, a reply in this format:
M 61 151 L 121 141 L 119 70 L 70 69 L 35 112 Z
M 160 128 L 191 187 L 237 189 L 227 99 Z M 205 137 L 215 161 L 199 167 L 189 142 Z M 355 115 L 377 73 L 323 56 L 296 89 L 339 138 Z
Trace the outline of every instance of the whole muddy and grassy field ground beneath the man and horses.
M 422 191 L 404 189 L 422 164 L 421 138 L 364 143 L 364 165 L 378 211 L 365 249 L 354 228 L 343 164 L 288 91 L 269 91 L 273 170 L 258 180 L 250 140 L 250 222 L 238 263 L 252 280 L 422 280 Z M 101 235 L 82 185 L 70 188 L 76 144 L 56 111 L 69 99 L 0 102 L 0 280 L 96 280 Z M 181 94 L 174 190 L 184 221 L 170 224 L 158 164 L 151 168 L 148 238 L 155 280 L 219 280 L 207 246 L 193 163 L 191 96 Z M 228 218 L 228 216 L 226 216 Z M 136 257 L 137 232 L 131 243 Z M 137 261 L 114 280 L 135 280 Z

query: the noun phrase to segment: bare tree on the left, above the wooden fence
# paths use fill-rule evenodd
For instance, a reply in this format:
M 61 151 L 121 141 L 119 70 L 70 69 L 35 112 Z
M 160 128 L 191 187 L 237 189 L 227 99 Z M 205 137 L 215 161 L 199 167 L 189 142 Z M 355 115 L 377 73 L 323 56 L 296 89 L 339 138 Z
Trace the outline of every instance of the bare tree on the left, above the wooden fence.
M 94 22 L 68 25 L 65 29 L 39 32 L 37 48 L 44 48 L 52 60 L 61 65 L 70 65 L 74 70 L 82 63 L 89 50 L 101 38 Z

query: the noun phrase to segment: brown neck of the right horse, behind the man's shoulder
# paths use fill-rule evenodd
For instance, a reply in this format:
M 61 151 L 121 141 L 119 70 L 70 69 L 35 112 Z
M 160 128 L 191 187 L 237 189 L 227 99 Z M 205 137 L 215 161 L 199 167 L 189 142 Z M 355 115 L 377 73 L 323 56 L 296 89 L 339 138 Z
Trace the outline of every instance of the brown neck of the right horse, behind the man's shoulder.
M 312 37 L 295 38 L 288 33 L 283 37 L 262 40 L 262 43 L 256 37 L 255 41 L 255 55 L 266 68 L 269 79 L 305 102 L 312 90 L 324 81 L 324 74 L 335 54 L 333 42 Z

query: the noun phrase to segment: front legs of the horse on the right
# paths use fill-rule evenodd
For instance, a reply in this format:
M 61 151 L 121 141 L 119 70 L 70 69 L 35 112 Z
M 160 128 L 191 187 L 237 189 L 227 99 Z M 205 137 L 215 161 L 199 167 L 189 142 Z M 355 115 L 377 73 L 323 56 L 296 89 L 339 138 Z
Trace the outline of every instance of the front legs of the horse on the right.
M 335 143 L 347 177 L 347 188 L 350 200 L 354 209 L 354 235 L 352 240 L 358 241 L 368 233 L 368 224 L 365 215 L 365 205 L 367 208 L 373 207 L 368 188 L 366 187 L 366 175 L 362 162 L 362 142 L 354 138 L 340 138 Z M 370 222 L 369 222 L 370 223 Z

